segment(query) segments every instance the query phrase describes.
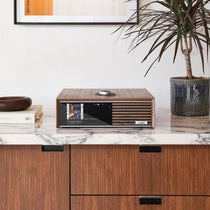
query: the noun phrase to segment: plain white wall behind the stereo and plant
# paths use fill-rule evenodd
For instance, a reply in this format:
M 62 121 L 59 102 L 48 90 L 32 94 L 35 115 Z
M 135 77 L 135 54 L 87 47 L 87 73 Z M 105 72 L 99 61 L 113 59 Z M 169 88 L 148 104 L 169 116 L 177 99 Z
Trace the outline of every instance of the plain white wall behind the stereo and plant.
M 157 107 L 169 107 L 169 78 L 185 75 L 183 56 L 172 64 L 171 49 L 144 78 L 151 43 L 128 54 L 129 42 L 111 35 L 117 26 L 24 26 L 13 16 L 13 0 L 0 1 L 0 96 L 27 95 L 46 108 L 62 88 L 147 88 Z M 192 61 L 202 75 L 196 51 Z

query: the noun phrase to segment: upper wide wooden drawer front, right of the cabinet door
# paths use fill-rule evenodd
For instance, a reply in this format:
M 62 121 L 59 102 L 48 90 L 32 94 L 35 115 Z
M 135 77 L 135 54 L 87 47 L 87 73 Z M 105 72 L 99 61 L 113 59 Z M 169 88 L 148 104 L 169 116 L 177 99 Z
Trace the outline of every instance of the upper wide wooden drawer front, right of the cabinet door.
M 139 146 L 72 146 L 72 194 L 210 195 L 209 146 L 142 151 Z

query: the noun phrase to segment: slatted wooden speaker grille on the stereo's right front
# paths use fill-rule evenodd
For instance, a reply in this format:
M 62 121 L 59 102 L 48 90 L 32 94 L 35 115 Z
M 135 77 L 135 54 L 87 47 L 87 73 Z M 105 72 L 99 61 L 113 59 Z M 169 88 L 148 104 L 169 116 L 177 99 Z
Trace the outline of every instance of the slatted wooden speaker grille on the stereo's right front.
M 150 101 L 112 103 L 113 125 L 152 125 L 152 114 Z

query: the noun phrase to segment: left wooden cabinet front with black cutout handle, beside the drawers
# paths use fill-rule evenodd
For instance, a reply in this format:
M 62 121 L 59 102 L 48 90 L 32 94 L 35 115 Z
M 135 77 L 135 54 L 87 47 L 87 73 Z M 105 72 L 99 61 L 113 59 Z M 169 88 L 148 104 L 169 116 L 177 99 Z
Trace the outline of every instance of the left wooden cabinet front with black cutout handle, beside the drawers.
M 0 146 L 0 209 L 68 210 L 69 146 Z

